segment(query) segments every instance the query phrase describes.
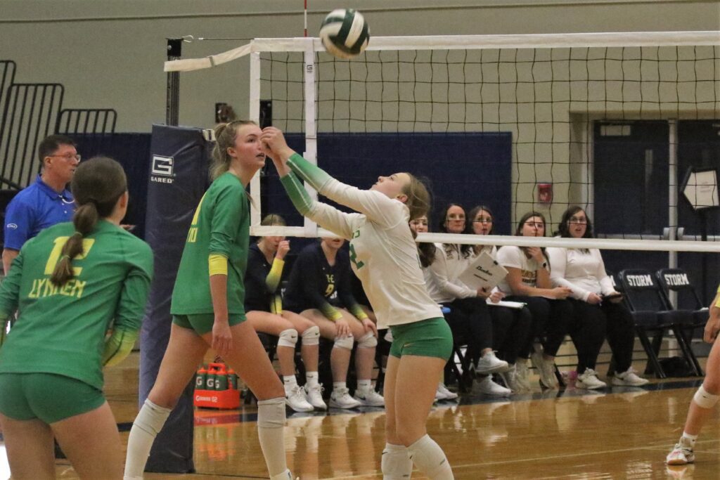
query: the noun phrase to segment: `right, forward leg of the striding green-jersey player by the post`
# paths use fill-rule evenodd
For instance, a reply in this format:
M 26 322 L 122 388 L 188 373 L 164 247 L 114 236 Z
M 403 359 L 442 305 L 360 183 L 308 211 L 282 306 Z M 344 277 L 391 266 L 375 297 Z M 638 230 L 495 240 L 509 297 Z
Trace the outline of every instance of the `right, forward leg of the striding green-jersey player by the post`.
M 285 458 L 285 396 L 280 379 L 257 333 L 248 322 L 230 326 L 233 347 L 225 361 L 258 399 L 258 438 L 271 480 L 292 479 Z M 212 343 L 212 332 L 203 338 Z

